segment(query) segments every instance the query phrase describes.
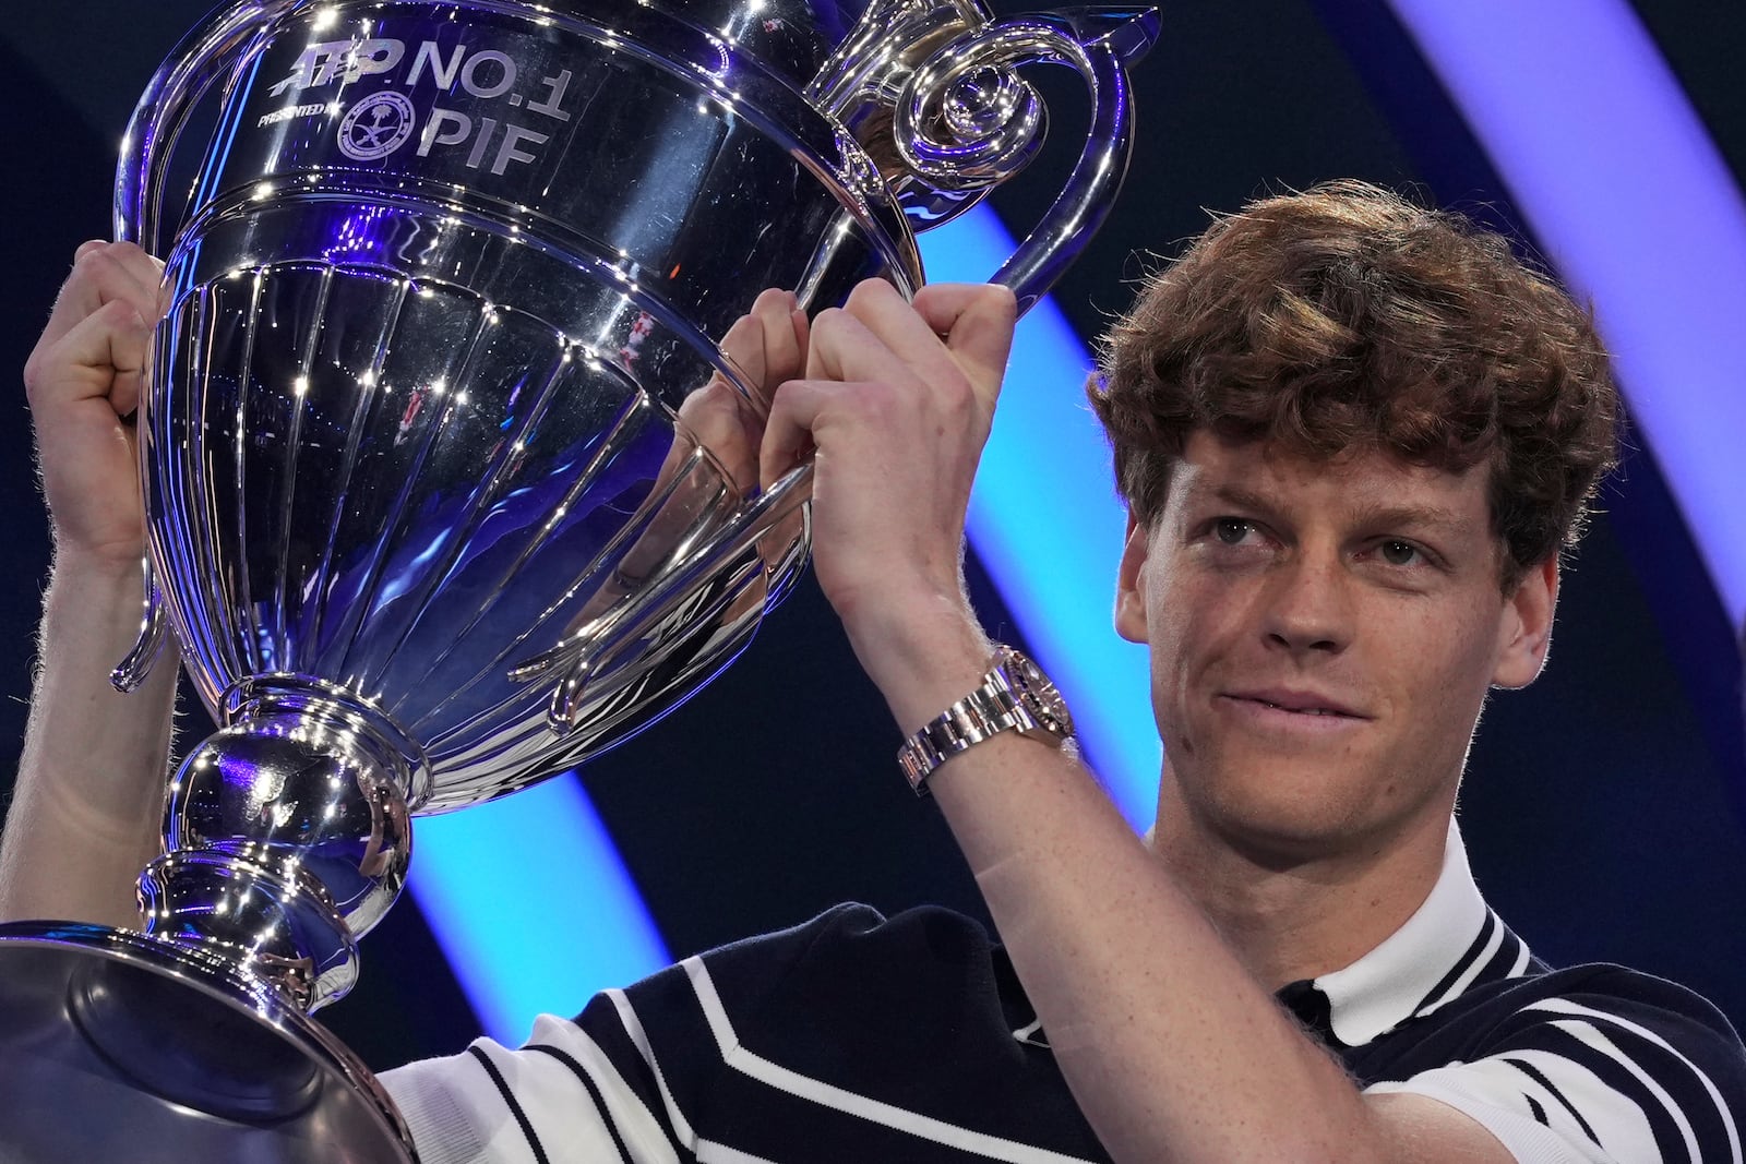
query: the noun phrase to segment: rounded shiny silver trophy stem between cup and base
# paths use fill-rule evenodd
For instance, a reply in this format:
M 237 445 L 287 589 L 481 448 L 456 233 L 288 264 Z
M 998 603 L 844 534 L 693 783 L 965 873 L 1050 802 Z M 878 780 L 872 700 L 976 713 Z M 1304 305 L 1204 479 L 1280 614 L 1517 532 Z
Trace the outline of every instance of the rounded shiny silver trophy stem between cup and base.
M 300 1010 L 342 998 L 358 979 L 358 937 L 405 885 L 407 801 L 423 770 L 361 700 L 251 679 L 232 722 L 171 784 L 166 855 L 140 878 L 147 932 Z

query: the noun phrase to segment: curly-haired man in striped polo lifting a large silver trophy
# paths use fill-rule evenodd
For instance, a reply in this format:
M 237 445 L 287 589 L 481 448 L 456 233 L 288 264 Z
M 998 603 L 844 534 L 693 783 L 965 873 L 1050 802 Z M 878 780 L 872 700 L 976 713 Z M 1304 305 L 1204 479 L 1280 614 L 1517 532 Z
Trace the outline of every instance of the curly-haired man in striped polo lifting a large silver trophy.
M 148 848 L 127 822 L 152 818 L 168 695 L 122 714 L 101 667 L 134 609 L 115 415 L 154 274 L 84 253 L 30 373 L 58 564 L 7 916 L 126 920 L 101 904 Z M 805 366 L 761 476 L 815 455 L 819 583 L 1004 948 L 843 907 L 686 960 L 519 1052 L 389 1073 L 424 1164 L 1741 1159 L 1727 1021 L 1617 967 L 1549 972 L 1453 831 L 1488 691 L 1545 660 L 1617 412 L 1585 312 L 1502 241 L 1358 183 L 1269 199 L 1112 332 L 1091 400 L 1131 513 L 1116 623 L 1149 644 L 1166 754 L 1151 845 L 1046 702 L 981 740 L 946 714 L 1025 674 L 959 560 L 1011 297 L 868 284 L 810 335 L 779 297 L 753 319 L 768 366 Z M 30 883 L 52 862 L 21 853 L 79 829 L 133 864 Z

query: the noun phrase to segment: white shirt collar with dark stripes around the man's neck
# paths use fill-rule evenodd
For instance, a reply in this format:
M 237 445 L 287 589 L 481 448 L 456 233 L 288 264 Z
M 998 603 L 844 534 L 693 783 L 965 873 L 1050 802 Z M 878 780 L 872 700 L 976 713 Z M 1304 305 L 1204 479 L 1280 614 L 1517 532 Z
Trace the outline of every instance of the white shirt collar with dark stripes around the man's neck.
M 1351 965 L 1313 983 L 1292 983 L 1280 996 L 1315 1026 L 1325 1023 L 1343 1045 L 1360 1047 L 1416 1014 L 1435 1010 L 1482 972 L 1516 976 L 1528 962 L 1526 946 L 1479 895 L 1461 832 L 1451 820 L 1442 873 L 1418 911 Z M 1313 995 L 1327 1000 L 1325 1017 Z

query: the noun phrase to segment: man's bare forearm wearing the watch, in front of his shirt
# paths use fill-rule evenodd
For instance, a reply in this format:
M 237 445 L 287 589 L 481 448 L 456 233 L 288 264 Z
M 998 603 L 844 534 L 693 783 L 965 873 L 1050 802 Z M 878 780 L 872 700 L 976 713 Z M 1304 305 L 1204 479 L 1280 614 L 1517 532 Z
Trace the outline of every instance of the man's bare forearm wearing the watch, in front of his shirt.
M 986 640 L 962 614 L 932 611 L 931 621 L 927 633 L 857 640 L 904 731 L 986 668 Z M 1004 733 L 953 757 L 929 787 L 1116 1161 L 1369 1159 L 1358 1089 L 1076 759 Z

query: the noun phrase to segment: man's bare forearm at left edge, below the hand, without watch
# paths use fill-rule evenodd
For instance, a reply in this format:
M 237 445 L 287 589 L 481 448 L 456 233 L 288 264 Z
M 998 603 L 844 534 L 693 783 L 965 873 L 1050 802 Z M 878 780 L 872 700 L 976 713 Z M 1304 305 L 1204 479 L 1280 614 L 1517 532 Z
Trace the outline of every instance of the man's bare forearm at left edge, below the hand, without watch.
M 0 834 L 0 920 L 138 925 L 133 887 L 159 848 L 176 691 L 173 656 L 138 691 L 110 688 L 138 630 L 138 567 L 56 562 Z

